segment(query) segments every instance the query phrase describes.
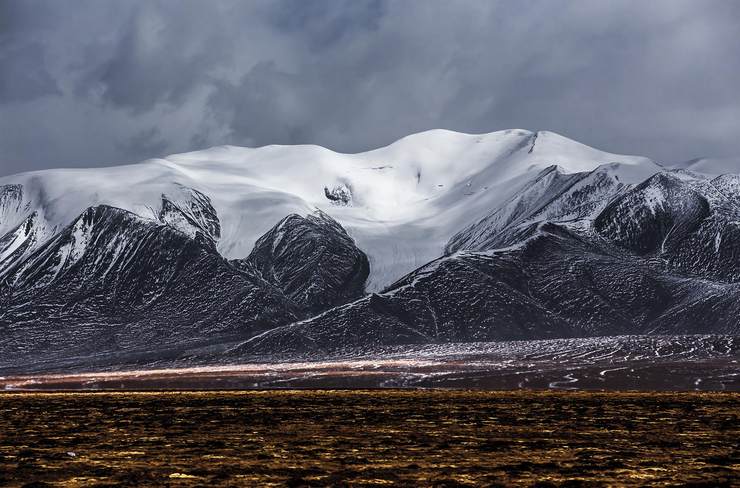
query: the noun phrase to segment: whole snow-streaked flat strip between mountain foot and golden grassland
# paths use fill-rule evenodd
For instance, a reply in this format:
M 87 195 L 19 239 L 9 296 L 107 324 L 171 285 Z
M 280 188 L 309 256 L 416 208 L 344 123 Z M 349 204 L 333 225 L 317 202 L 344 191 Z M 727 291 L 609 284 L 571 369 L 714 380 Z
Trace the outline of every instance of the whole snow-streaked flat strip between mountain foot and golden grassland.
M 192 362 L 196 356 L 183 353 L 178 360 L 155 363 L 126 363 L 125 358 L 118 358 L 121 363 L 108 366 L 90 357 L 66 364 L 15 365 L 0 368 L 0 390 L 421 387 L 740 391 L 740 336 L 407 344 L 332 355 L 261 356 L 242 361 L 201 357 L 200 363 Z

